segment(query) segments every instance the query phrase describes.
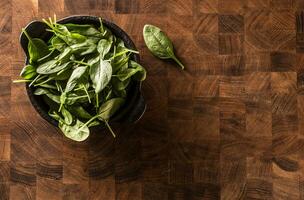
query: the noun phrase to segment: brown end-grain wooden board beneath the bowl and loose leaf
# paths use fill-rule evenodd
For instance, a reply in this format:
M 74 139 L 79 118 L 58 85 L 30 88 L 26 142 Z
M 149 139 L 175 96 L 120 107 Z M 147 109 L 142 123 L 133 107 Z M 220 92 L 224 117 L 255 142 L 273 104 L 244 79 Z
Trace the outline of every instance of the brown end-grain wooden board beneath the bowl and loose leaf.
M 0 0 L 0 199 L 304 199 L 303 0 Z M 97 15 L 134 40 L 148 108 L 119 137 L 72 142 L 23 84 L 20 30 Z M 142 28 L 186 65 L 154 58 Z

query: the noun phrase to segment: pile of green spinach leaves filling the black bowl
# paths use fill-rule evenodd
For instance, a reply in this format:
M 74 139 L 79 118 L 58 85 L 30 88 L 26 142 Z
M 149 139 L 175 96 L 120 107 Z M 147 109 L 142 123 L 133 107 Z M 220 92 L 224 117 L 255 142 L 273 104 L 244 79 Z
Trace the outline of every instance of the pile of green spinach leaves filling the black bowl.
M 49 115 L 58 121 L 64 135 L 83 141 L 89 127 L 104 123 L 121 108 L 130 82 L 143 81 L 146 70 L 131 60 L 135 50 L 103 25 L 58 24 L 44 20 L 53 33 L 49 41 L 28 38 L 29 64 L 20 76 L 42 95 Z

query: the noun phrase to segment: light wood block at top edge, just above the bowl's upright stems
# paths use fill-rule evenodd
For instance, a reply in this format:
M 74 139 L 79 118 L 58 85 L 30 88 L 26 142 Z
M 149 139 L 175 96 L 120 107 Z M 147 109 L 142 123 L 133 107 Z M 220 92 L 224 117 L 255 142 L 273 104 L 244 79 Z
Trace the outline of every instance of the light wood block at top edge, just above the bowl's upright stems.
M 64 11 L 64 1 L 63 0 L 38 0 L 38 10 L 39 10 L 39 12 L 52 12 L 54 10 L 57 13 L 63 12 Z

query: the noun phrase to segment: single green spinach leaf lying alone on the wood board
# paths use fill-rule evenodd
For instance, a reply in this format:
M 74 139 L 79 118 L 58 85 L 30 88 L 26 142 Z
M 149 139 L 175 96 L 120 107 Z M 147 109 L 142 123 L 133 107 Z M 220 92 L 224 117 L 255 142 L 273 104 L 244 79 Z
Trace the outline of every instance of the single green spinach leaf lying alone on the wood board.
M 144 40 L 153 55 L 160 59 L 173 59 L 182 69 L 184 65 L 176 58 L 173 44 L 168 36 L 158 27 L 145 25 L 143 30 Z

